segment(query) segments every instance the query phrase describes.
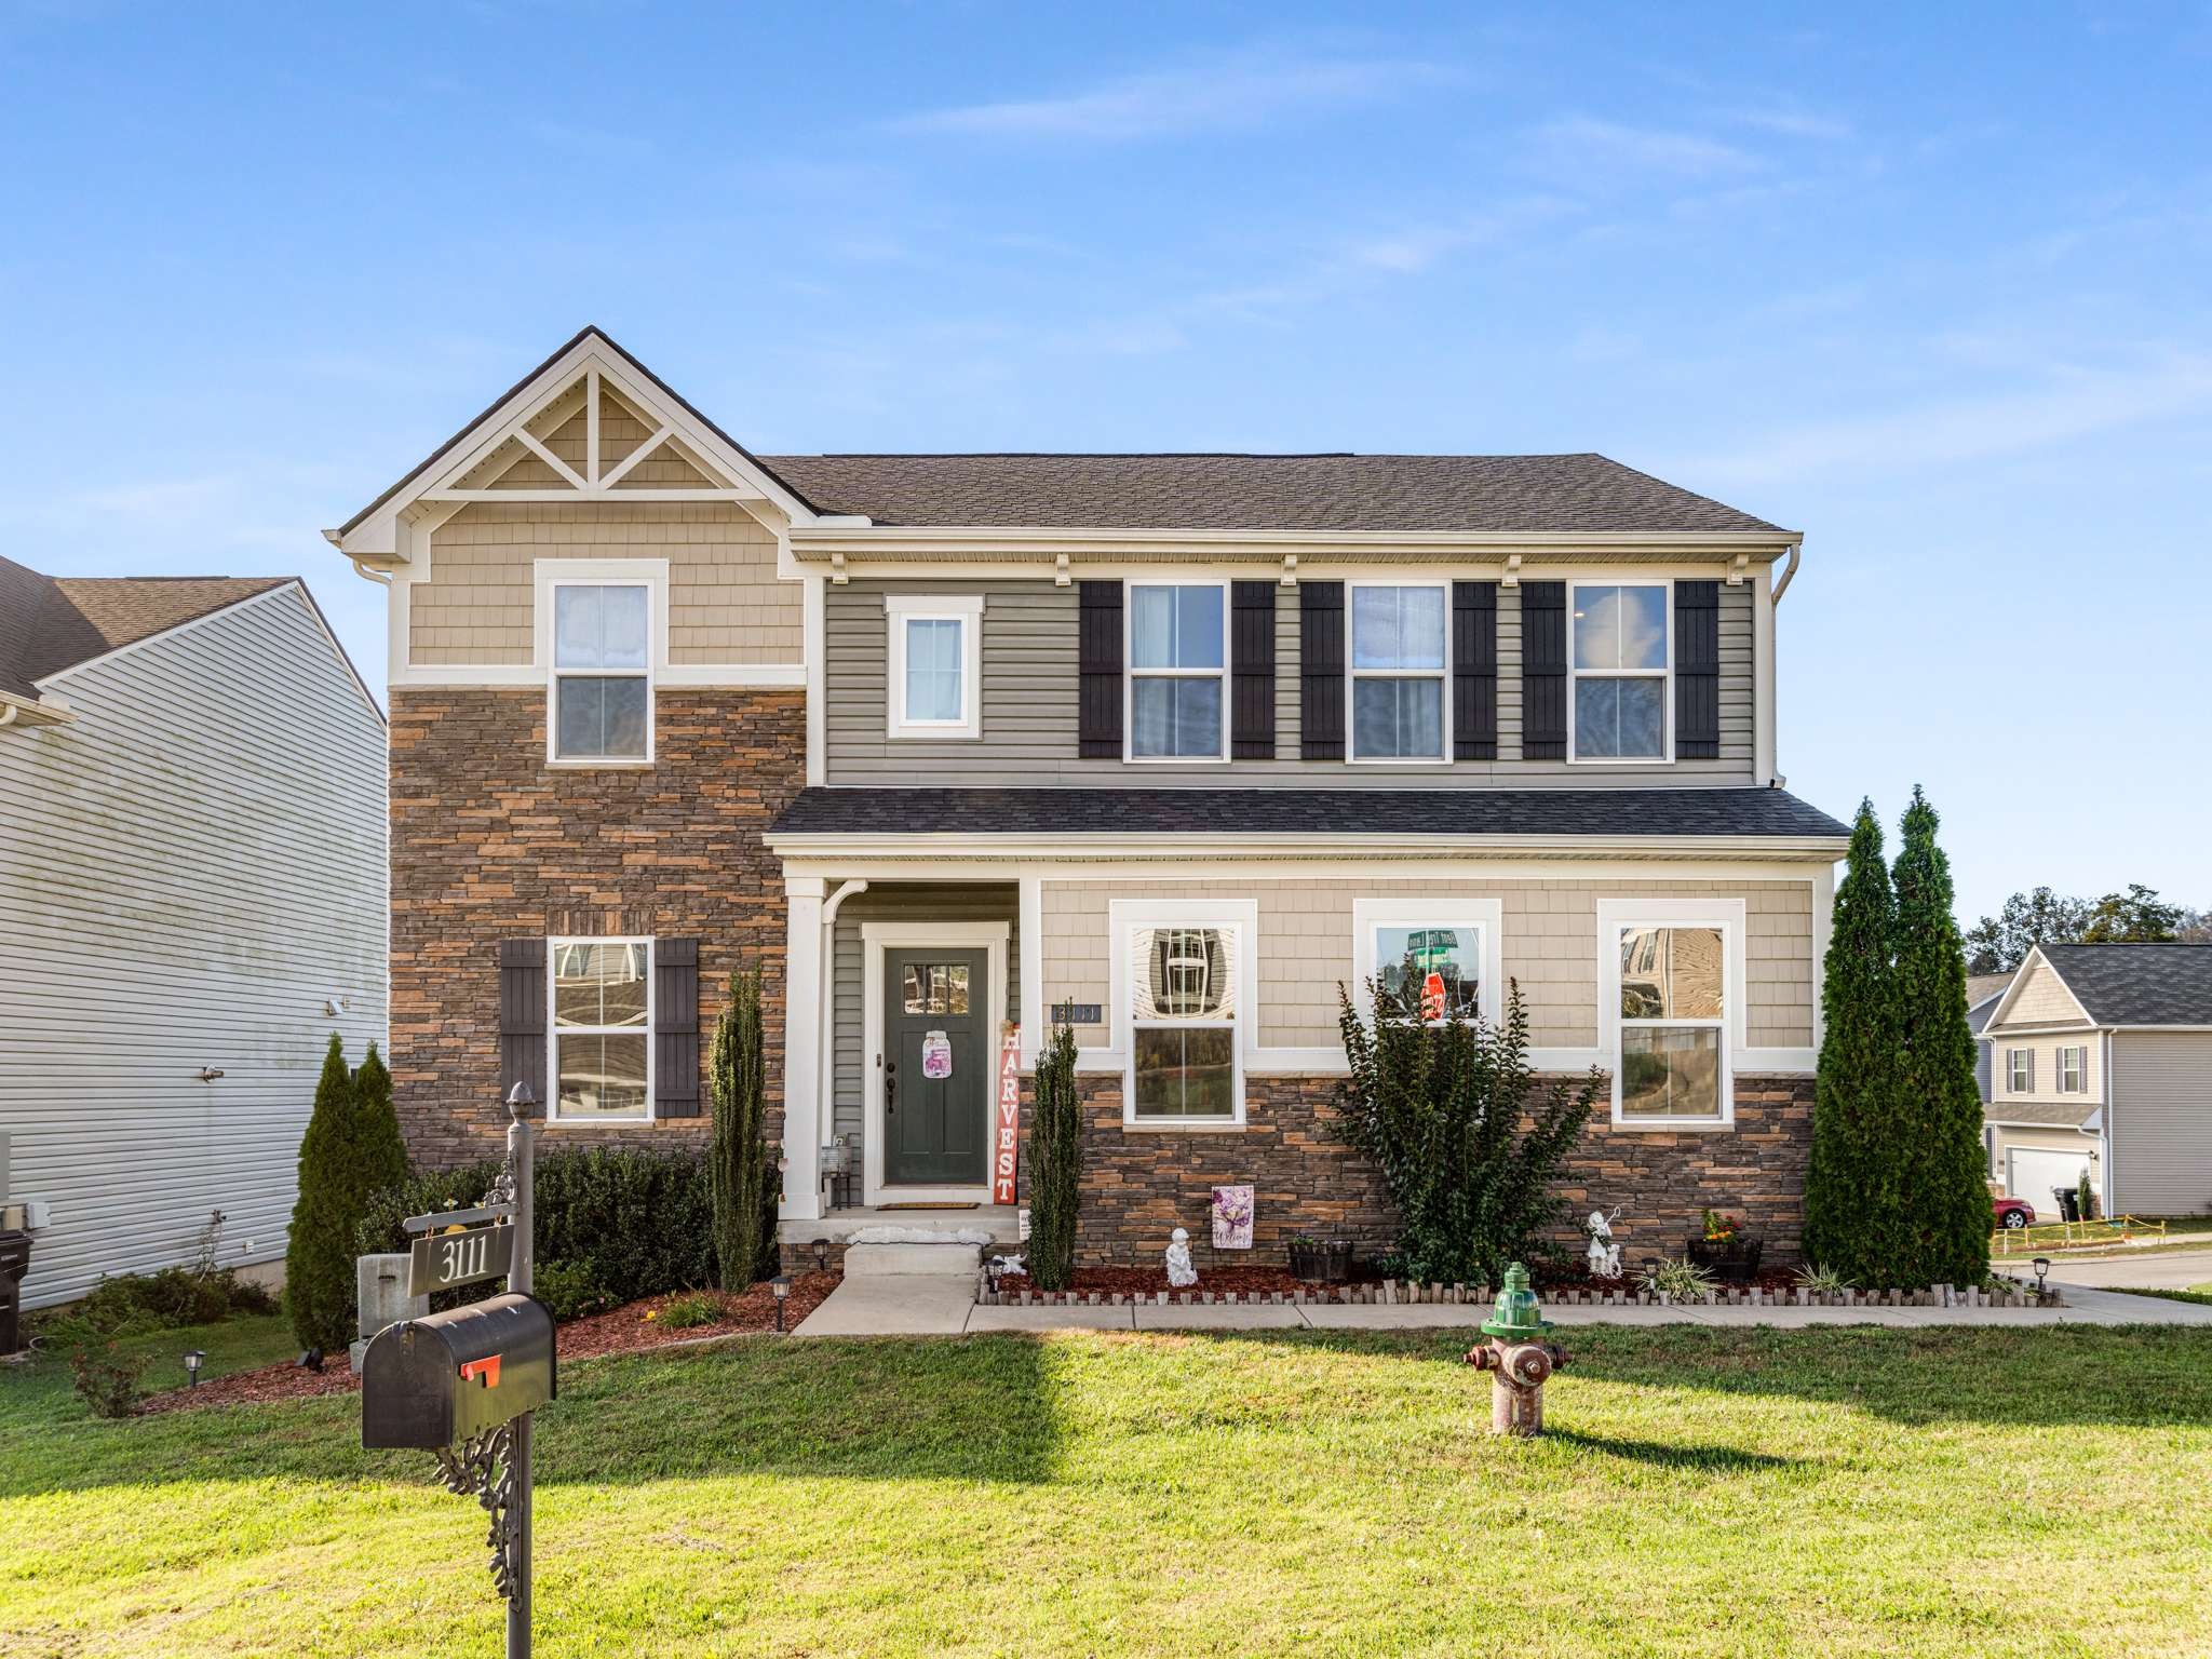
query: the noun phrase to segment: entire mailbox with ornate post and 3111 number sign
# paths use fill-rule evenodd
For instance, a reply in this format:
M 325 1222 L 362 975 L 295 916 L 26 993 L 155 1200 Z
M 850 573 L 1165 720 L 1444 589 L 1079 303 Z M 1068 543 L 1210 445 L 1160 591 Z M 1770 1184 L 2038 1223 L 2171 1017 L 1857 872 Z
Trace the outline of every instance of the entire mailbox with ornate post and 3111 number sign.
M 507 1168 L 476 1210 L 407 1219 L 407 1294 L 507 1276 L 507 1294 L 403 1318 L 361 1356 L 361 1444 L 434 1451 L 449 1491 L 491 1515 L 507 1655 L 531 1650 L 531 1413 L 555 1398 L 553 1316 L 531 1296 L 529 1084 L 507 1099 Z

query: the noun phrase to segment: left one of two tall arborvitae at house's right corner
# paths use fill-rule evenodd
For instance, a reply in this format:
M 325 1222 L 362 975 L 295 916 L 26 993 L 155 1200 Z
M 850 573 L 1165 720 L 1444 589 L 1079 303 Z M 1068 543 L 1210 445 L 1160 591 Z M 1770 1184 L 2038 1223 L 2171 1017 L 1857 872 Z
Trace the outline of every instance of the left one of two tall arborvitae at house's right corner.
M 1893 1281 L 1882 1283 L 1882 1276 L 1900 1206 L 1891 1113 L 1898 1022 L 1889 971 L 1896 900 L 1871 801 L 1858 805 L 1847 860 L 1820 989 L 1825 1031 L 1805 1172 L 1805 1259 L 1854 1285 L 1887 1290 Z

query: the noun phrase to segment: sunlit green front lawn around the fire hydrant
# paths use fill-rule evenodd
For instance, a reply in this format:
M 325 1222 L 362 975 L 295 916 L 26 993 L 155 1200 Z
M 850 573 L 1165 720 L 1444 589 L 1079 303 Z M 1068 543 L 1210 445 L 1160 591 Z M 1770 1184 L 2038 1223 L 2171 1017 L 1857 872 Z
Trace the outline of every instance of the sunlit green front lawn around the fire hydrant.
M 540 1652 L 2212 1650 L 2212 1332 L 1566 1345 L 1533 1444 L 1453 1334 L 575 1365 Z M 0 1376 L 0 1652 L 498 1650 L 478 1509 L 365 1455 L 352 1398 L 69 1405 Z

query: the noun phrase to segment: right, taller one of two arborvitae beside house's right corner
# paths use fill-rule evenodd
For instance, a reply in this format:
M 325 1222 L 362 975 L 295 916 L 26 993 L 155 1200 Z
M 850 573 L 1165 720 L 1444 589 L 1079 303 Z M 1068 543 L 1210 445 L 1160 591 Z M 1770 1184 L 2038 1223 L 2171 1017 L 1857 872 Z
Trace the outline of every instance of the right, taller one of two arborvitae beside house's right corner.
M 1980 1285 L 1989 1274 L 1989 1155 L 1982 1088 L 1966 1029 L 1966 951 L 1951 914 L 1951 860 L 1936 845 L 1936 807 L 1913 787 L 1896 891 L 1893 1009 L 1898 1020 L 1898 1139 L 1905 1254 L 1887 1283 Z

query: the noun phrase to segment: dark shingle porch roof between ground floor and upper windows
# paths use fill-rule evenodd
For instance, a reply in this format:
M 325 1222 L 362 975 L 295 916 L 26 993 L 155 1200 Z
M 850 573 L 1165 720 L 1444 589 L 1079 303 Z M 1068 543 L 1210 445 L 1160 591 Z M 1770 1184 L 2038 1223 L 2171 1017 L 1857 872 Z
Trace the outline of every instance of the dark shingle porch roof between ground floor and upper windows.
M 1832 836 L 1781 790 L 801 790 L 770 834 Z

